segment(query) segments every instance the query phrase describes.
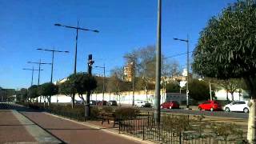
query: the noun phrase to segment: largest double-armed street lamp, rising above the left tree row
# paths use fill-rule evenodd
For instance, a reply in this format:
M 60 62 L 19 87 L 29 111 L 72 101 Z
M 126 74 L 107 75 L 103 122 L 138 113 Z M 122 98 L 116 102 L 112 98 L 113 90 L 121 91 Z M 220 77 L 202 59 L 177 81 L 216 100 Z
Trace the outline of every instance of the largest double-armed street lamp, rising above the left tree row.
M 85 30 L 85 31 L 92 31 L 98 33 L 98 30 L 89 30 L 79 27 L 79 23 L 77 26 L 65 26 L 59 23 L 55 23 L 54 26 L 63 26 L 70 29 L 75 29 L 77 31 L 76 38 L 75 38 L 75 50 L 74 50 L 74 74 L 77 73 L 77 53 L 78 53 L 78 30 Z

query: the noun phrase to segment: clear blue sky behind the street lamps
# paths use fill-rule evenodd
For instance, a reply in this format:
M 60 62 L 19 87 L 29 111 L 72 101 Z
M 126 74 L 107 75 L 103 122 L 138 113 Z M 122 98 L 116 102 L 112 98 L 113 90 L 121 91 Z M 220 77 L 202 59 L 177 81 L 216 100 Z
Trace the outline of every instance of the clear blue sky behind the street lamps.
M 190 35 L 190 50 L 199 32 L 212 16 L 235 0 L 162 0 L 162 53 L 165 56 L 186 52 L 186 44 L 173 38 Z M 157 0 L 0 0 L 0 86 L 30 86 L 31 68 L 27 61 L 50 62 L 51 54 L 36 48 L 69 50 L 55 54 L 54 81 L 74 70 L 75 30 L 58 26 L 79 25 L 100 33 L 80 31 L 78 36 L 78 71 L 86 71 L 88 54 L 95 66 L 106 63 L 107 73 L 124 64 L 123 54 L 138 47 L 155 45 Z M 176 57 L 182 66 L 186 55 Z M 34 65 L 37 67 L 36 65 Z M 42 66 L 42 82 L 50 81 L 50 66 Z M 101 69 L 94 69 L 100 74 Z M 38 73 L 34 75 L 37 83 Z

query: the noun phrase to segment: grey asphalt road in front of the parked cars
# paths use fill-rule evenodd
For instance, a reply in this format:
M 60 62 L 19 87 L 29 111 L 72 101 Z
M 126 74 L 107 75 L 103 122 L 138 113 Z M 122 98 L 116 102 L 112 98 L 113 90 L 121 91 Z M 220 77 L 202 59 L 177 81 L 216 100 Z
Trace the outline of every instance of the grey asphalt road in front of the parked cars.
M 153 111 L 153 108 L 140 108 L 140 110 Z M 162 109 L 162 112 L 174 113 L 174 114 L 192 114 L 192 115 L 205 115 L 212 117 L 224 117 L 224 118 L 242 118 L 248 119 L 248 114 L 240 112 L 225 112 L 225 111 L 206 111 L 206 110 L 184 110 L 184 109 Z

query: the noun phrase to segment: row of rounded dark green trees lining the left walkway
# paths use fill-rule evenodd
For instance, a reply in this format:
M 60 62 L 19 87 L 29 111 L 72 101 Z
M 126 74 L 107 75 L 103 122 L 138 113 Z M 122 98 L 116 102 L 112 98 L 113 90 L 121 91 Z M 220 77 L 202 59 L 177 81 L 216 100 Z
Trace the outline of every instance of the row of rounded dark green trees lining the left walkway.
M 62 84 L 54 85 L 51 82 L 43 83 L 40 86 L 30 86 L 28 89 L 21 89 L 18 92 L 18 98 L 20 98 L 23 102 L 31 101 L 32 98 L 43 97 L 44 103 L 47 99 L 48 105 L 50 104 L 50 99 L 52 95 L 55 94 L 65 94 L 66 96 L 70 96 L 72 98 L 72 107 L 74 106 L 74 95 L 78 94 L 79 98 L 82 99 L 83 103 L 90 102 L 90 93 L 97 87 L 96 79 L 87 73 L 77 73 L 71 74 L 66 82 Z M 87 102 L 85 98 L 83 98 L 83 94 L 86 94 Z

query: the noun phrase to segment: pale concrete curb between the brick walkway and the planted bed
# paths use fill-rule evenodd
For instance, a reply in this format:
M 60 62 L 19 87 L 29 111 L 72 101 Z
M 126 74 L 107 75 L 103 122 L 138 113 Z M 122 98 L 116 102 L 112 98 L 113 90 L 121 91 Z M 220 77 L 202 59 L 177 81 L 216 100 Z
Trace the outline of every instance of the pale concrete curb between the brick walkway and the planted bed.
M 102 131 L 104 131 L 104 132 L 106 132 L 108 134 L 113 134 L 113 135 L 118 136 L 118 137 L 122 137 L 122 138 L 126 138 L 126 139 L 129 139 L 129 140 L 133 140 L 134 142 L 140 142 L 140 143 L 145 143 L 145 144 L 154 144 L 154 143 L 156 143 L 156 142 L 151 142 L 151 141 L 147 141 L 147 140 L 142 140 L 141 138 L 135 138 L 135 137 L 127 135 L 127 134 L 119 134 L 118 132 L 116 132 L 114 130 L 108 130 L 108 129 L 102 128 L 100 126 L 91 124 L 89 122 L 77 122 L 77 121 L 74 121 L 74 120 L 69 119 L 69 118 L 63 118 L 62 116 L 59 116 L 59 115 L 50 114 L 50 113 L 47 113 L 47 112 L 43 112 L 43 113 L 44 114 L 49 114 L 49 115 L 54 116 L 56 118 L 65 119 L 65 120 L 70 121 L 70 122 L 75 122 L 75 123 L 78 123 L 78 124 L 83 125 L 83 126 L 88 126 L 90 128 L 94 128 L 94 129 L 97 129 L 97 130 L 102 130 Z

